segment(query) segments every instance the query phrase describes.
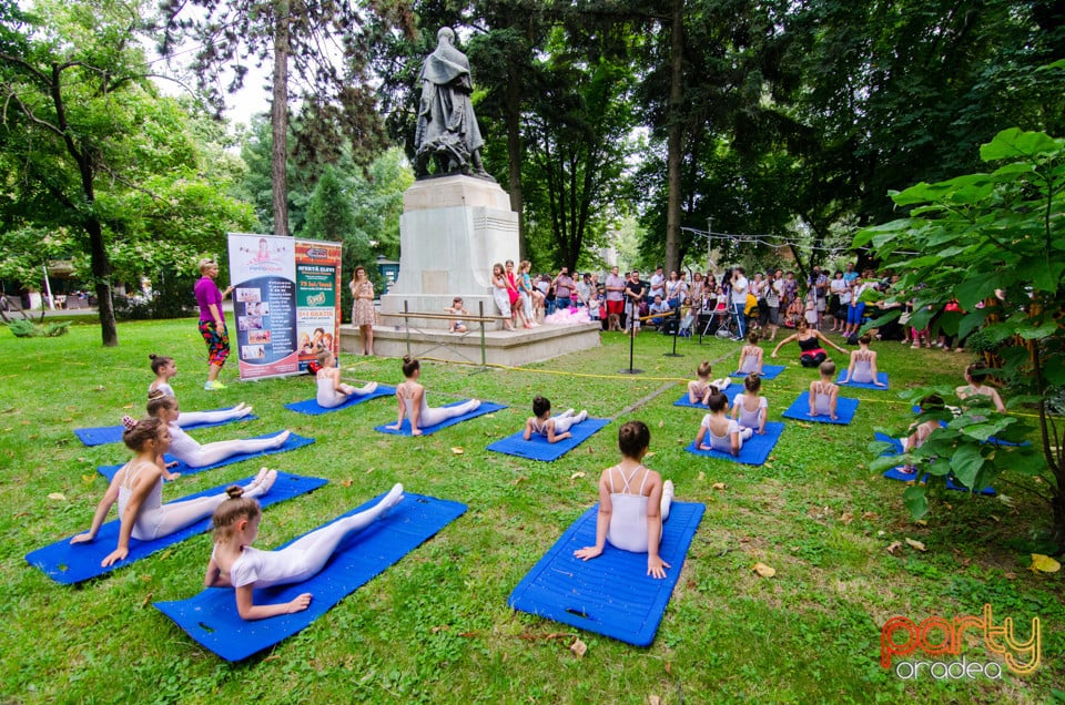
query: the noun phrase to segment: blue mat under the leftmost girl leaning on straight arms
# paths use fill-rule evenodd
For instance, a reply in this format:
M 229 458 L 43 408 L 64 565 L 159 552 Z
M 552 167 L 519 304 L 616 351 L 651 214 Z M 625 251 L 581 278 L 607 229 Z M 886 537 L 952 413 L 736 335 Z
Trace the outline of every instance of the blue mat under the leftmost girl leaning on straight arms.
M 225 488 L 230 487 L 231 484 L 247 484 L 253 479 L 254 478 L 244 478 L 237 482 L 226 482 L 225 484 L 220 484 L 219 487 L 204 490 L 203 492 L 196 492 L 195 494 L 190 494 L 189 497 L 182 497 L 181 499 L 174 501 L 181 502 L 196 499 L 199 497 L 219 494 L 224 492 Z M 274 482 L 274 487 L 270 488 L 270 492 L 266 492 L 266 494 L 263 494 L 258 498 L 258 503 L 264 508 L 270 507 L 306 492 L 311 492 L 312 490 L 316 490 L 327 482 L 328 480 L 323 480 L 322 478 L 304 478 L 298 474 L 278 472 L 277 481 Z M 130 539 L 130 554 L 114 565 L 103 568 L 100 565 L 100 561 L 106 558 L 108 554 L 110 554 L 111 551 L 119 545 L 120 528 L 121 522 L 118 519 L 114 521 L 109 521 L 100 527 L 100 531 L 97 533 L 95 540 L 91 543 L 71 544 L 71 537 L 68 537 L 62 541 L 57 541 L 55 543 L 47 545 L 43 549 L 38 549 L 37 551 L 27 553 L 26 562 L 34 568 L 39 568 L 44 572 L 45 575 L 55 582 L 71 585 L 91 578 L 98 578 L 115 569 L 123 568 L 133 561 L 139 561 L 140 559 L 161 551 L 169 545 L 184 541 L 189 537 L 203 533 L 204 531 L 211 529 L 211 518 L 206 517 L 201 519 L 196 523 L 190 524 L 181 531 L 155 539 L 154 541 L 138 541 L 136 539 Z

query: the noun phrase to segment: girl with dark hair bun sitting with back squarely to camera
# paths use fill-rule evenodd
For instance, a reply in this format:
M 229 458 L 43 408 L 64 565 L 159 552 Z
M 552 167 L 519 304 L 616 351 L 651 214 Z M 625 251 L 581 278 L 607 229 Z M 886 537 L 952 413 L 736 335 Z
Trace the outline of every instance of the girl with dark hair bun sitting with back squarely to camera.
M 666 578 L 669 563 L 658 554 L 662 522 L 669 518 L 673 483 L 643 467 L 651 431 L 642 421 L 629 421 L 618 430 L 621 462 L 599 478 L 599 517 L 596 545 L 574 551 L 585 561 L 602 553 L 606 542 L 622 551 L 647 553 L 647 574 Z

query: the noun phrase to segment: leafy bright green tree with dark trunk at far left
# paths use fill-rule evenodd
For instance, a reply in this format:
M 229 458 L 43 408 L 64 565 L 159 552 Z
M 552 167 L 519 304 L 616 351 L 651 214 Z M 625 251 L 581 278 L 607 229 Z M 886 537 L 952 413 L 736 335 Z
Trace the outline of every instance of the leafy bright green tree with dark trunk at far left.
M 144 266 L 146 256 L 189 242 L 181 231 L 186 217 L 213 219 L 215 206 L 233 205 L 200 190 L 206 180 L 186 115 L 156 95 L 138 42 L 146 18 L 144 4 L 112 0 L 42 0 L 32 16 L 0 4 L 0 92 L 8 106 L 0 155 L 14 194 L 2 203 L 2 225 L 82 234 L 68 243 L 88 252 L 108 346 L 118 345 L 115 259 Z M 239 212 L 230 215 L 240 219 Z

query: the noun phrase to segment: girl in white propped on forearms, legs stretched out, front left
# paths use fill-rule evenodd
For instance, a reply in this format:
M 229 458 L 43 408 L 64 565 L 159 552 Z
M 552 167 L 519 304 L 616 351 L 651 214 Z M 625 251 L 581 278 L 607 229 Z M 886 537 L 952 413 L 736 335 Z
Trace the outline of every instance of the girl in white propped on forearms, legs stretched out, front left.
M 231 487 L 226 492 L 230 499 L 214 512 L 214 550 L 203 584 L 235 588 L 236 612 L 243 620 L 262 620 L 306 610 L 311 604 L 308 592 L 291 602 L 256 605 L 253 591 L 310 579 L 325 566 L 344 539 L 365 529 L 403 500 L 403 486 L 396 484 L 366 511 L 338 519 L 277 551 L 260 551 L 252 548 L 262 517 L 258 502 L 244 497 L 240 487 Z

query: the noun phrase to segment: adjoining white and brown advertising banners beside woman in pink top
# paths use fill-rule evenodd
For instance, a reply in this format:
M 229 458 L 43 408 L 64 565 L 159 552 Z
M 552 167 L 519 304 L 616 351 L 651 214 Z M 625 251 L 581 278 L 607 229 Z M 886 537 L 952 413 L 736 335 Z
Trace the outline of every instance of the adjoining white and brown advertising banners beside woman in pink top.
M 336 351 L 339 244 L 231 233 L 229 251 L 241 379 L 296 375 L 314 359 L 315 346 Z M 322 333 L 304 346 L 308 327 L 308 343 Z

